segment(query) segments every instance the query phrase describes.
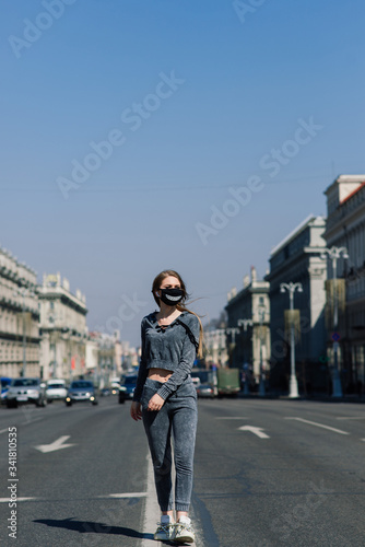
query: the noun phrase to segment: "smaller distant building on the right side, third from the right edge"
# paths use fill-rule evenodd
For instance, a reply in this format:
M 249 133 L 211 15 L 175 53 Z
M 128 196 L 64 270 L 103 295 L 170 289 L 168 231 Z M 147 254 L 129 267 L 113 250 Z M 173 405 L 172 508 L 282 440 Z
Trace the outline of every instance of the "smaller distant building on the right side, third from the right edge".
M 229 366 L 244 369 L 252 384 L 270 373 L 270 283 L 258 280 L 256 268 L 245 276 L 244 288 L 228 293 L 227 347 Z

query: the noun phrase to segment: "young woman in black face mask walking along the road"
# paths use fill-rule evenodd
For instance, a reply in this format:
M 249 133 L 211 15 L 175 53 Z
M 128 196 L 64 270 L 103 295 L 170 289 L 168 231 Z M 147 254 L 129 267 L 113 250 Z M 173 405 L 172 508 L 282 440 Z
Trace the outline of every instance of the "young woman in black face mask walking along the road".
M 185 307 L 185 283 L 174 270 L 158 274 L 152 293 L 160 311 L 141 324 L 142 354 L 131 417 L 143 420 L 162 516 L 154 538 L 195 540 L 188 516 L 197 432 L 197 393 L 190 371 L 201 354 L 199 317 Z M 172 486 L 172 443 L 176 470 L 175 511 Z

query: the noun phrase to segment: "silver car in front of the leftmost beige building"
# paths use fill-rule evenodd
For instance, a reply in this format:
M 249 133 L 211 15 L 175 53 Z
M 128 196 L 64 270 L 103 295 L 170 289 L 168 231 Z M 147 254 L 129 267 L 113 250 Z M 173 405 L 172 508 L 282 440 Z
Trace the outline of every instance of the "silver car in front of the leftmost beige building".
M 16 377 L 11 381 L 7 394 L 7 407 L 34 403 L 37 407 L 47 405 L 46 384 L 38 377 Z

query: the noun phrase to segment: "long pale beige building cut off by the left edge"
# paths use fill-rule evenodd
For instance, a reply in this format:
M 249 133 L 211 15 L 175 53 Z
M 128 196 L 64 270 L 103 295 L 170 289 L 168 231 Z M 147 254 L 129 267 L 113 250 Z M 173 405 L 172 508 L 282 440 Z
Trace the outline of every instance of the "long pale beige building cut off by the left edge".
M 0 247 L 0 374 L 39 376 L 36 272 Z

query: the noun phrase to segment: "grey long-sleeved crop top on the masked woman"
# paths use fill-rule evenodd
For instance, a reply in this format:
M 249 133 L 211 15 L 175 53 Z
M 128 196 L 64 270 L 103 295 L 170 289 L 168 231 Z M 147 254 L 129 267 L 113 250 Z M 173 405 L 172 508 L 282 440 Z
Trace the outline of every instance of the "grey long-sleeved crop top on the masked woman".
M 141 323 L 141 361 L 133 400 L 141 399 L 148 369 L 172 371 L 170 377 L 157 391 L 166 399 L 191 372 L 199 346 L 200 323 L 196 315 L 182 312 L 166 327 L 158 325 L 156 313 L 150 313 Z

